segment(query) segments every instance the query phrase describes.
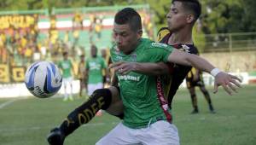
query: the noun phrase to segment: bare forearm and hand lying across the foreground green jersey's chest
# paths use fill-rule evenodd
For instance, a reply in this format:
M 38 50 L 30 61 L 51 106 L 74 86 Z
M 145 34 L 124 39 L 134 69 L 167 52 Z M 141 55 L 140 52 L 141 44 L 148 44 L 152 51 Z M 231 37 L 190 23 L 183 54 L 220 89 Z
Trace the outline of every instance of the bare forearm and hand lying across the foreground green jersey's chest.
M 126 62 L 119 61 L 109 66 L 113 71 L 120 74 L 127 74 L 130 72 L 143 73 L 147 75 L 163 75 L 170 73 L 170 69 L 164 62 L 150 63 L 150 62 Z

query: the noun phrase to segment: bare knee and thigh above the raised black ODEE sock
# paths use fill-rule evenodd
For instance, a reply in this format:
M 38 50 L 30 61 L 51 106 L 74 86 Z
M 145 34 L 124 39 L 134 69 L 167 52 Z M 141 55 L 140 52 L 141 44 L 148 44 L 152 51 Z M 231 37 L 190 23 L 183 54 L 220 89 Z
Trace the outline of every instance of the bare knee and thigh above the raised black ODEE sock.
M 124 105 L 119 97 L 119 89 L 114 86 L 110 86 L 108 89 L 112 94 L 112 102 L 106 111 L 112 115 L 122 114 L 124 112 Z

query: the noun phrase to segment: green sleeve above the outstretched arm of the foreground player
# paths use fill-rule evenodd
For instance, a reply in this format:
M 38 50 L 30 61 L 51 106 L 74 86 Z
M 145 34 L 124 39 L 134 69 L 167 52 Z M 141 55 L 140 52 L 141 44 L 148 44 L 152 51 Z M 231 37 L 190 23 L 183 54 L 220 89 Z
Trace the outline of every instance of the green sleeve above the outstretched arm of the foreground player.
M 148 61 L 159 62 L 168 61 L 169 55 L 172 54 L 173 47 L 167 44 L 151 43 L 146 50 Z

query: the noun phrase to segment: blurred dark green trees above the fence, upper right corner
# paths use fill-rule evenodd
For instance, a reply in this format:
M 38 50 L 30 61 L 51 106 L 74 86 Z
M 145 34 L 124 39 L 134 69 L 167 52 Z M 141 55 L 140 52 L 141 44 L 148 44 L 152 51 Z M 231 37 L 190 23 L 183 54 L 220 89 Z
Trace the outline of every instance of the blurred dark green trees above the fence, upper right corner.
M 203 0 L 204 32 L 255 32 L 254 0 Z

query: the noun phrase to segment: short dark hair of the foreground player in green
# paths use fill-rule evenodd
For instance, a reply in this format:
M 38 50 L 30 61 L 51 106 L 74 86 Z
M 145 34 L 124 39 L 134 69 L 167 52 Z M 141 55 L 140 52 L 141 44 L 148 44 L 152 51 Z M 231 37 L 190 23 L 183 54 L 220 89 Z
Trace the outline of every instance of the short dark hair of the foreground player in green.
M 115 14 L 114 22 L 118 25 L 129 24 L 129 26 L 131 26 L 131 30 L 134 32 L 143 28 L 140 14 L 132 8 L 121 9 L 117 14 Z

